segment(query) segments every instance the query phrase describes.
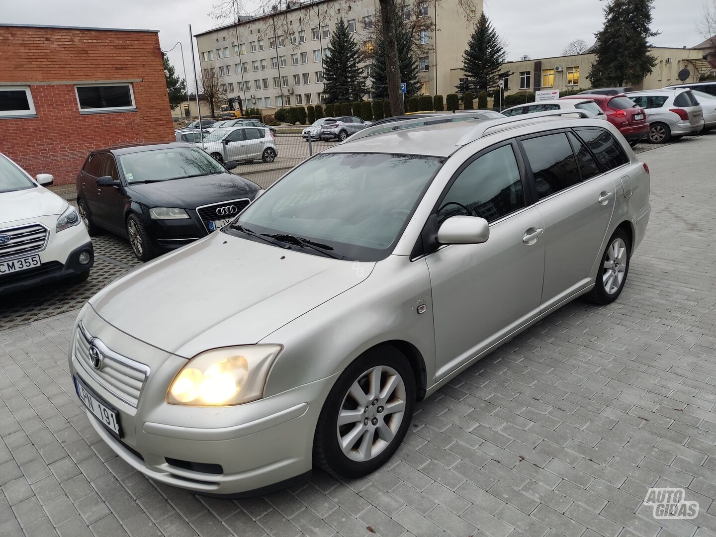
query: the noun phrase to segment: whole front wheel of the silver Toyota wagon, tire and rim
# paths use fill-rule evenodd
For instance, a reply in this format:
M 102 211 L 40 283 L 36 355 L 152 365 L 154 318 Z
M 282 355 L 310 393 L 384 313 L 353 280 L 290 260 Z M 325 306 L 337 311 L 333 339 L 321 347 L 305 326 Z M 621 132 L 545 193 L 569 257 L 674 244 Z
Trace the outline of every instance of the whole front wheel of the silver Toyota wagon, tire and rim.
M 390 345 L 357 358 L 332 388 L 314 436 L 314 460 L 334 475 L 377 470 L 402 442 L 415 408 L 415 374 Z

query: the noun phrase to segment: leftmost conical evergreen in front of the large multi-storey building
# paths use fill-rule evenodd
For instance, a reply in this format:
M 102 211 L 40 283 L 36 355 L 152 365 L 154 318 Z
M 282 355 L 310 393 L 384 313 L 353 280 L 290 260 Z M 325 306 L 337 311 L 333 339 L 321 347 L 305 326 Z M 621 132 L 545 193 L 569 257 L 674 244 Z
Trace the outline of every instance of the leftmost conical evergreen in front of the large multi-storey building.
M 360 62 L 362 54 L 348 26 L 340 19 L 323 59 L 323 91 L 326 102 L 362 100 L 368 92 Z

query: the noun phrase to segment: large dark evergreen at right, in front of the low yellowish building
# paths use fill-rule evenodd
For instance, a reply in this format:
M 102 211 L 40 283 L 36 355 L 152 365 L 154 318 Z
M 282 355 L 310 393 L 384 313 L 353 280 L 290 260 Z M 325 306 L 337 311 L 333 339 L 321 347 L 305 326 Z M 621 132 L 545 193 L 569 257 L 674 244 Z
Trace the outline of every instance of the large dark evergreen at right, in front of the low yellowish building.
M 592 87 L 639 84 L 657 64 L 649 54 L 654 0 L 611 0 L 604 8 L 604 28 L 597 32 L 596 60 L 589 70 Z

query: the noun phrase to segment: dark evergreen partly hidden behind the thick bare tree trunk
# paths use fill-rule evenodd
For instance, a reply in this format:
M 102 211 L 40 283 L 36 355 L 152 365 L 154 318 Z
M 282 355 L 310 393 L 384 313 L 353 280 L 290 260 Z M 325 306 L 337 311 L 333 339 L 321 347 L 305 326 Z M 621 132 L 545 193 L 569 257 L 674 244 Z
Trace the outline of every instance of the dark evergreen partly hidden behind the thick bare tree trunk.
M 420 79 L 418 78 L 417 61 L 410 53 L 412 43 L 410 42 L 410 29 L 405 24 L 402 13 L 399 9 L 402 4 L 395 3 L 395 39 L 398 45 L 398 64 L 400 65 L 401 82 L 407 84 L 407 92 L 405 98 L 420 93 Z M 385 67 L 385 42 L 382 38 L 382 32 L 378 34 L 377 43 L 373 48 L 373 57 L 371 64 L 371 79 L 374 99 L 388 98 L 388 77 Z

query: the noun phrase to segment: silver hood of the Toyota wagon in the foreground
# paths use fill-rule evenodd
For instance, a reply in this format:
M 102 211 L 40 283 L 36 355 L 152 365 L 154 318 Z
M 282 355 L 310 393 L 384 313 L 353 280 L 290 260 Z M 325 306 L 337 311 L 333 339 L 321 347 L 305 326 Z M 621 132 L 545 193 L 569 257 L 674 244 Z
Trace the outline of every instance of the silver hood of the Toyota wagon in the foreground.
M 359 284 L 374 264 L 216 232 L 120 276 L 89 304 L 122 332 L 190 358 L 261 341 Z

